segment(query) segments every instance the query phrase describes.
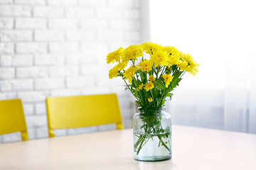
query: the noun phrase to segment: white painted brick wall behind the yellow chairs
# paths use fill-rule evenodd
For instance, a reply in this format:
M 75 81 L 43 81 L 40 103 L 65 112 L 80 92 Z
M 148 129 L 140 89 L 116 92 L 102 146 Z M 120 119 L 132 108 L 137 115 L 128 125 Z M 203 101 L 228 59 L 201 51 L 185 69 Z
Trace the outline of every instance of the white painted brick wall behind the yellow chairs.
M 139 0 L 0 0 L 0 100 L 23 100 L 31 140 L 48 137 L 47 96 L 117 93 L 124 126 L 132 127 L 129 94 L 122 80 L 108 79 L 106 55 L 140 43 L 140 20 Z M 20 140 L 0 136 L 0 143 Z

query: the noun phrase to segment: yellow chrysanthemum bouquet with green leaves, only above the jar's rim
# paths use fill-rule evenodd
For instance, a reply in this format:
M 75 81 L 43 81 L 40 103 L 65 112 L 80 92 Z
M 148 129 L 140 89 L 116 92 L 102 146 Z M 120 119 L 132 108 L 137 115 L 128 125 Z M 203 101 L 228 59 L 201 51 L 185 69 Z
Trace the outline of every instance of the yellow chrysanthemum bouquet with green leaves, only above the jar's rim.
M 111 62 L 117 65 L 110 69 L 110 79 L 122 77 L 142 108 L 163 107 L 183 74 L 189 72 L 194 76 L 199 66 L 191 55 L 153 42 L 130 45 L 125 50 L 120 47 L 107 55 L 107 63 Z

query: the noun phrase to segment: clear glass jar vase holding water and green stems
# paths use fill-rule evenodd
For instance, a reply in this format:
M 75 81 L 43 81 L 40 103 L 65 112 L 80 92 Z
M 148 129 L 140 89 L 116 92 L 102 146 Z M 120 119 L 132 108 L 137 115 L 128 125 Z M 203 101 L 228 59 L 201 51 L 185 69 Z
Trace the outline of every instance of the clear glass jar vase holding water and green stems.
M 143 109 L 134 114 L 134 159 L 164 161 L 171 159 L 171 115 L 165 108 Z

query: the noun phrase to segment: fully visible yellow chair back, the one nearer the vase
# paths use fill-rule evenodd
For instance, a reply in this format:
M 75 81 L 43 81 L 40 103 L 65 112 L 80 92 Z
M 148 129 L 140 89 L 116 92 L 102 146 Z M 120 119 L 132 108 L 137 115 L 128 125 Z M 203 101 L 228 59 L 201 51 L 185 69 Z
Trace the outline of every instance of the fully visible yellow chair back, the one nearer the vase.
M 46 98 L 49 137 L 53 129 L 82 128 L 116 123 L 123 129 L 117 94 Z

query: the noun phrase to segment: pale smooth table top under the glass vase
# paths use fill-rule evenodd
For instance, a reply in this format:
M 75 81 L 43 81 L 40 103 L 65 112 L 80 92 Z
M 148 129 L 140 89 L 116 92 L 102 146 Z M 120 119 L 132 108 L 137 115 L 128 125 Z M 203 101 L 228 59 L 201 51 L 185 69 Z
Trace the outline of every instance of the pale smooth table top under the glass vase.
M 0 169 L 255 170 L 256 135 L 173 125 L 173 157 L 133 159 L 132 129 L 0 145 Z

